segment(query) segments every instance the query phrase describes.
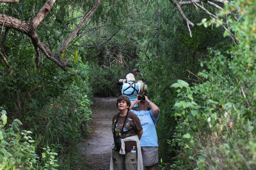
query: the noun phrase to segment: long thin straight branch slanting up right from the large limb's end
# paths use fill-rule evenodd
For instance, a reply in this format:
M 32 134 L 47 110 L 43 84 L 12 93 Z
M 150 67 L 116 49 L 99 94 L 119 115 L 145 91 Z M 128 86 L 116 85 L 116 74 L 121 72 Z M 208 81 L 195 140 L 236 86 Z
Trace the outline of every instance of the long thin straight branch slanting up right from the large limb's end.
M 93 8 L 88 11 L 88 13 L 84 16 L 84 18 L 81 20 L 81 22 L 76 26 L 76 28 L 74 29 L 74 31 L 70 34 L 70 36 L 68 36 L 68 38 L 66 39 L 66 41 L 61 45 L 61 47 L 59 48 L 58 52 L 56 52 L 56 55 L 61 55 L 61 53 L 63 53 L 63 51 L 65 50 L 65 48 L 68 46 L 68 44 L 70 43 L 70 41 L 74 38 L 74 36 L 76 36 L 77 32 L 81 29 L 81 27 L 83 27 L 84 24 L 86 24 L 86 22 L 92 17 L 93 13 L 97 10 L 97 8 L 99 7 L 100 3 L 102 0 L 97 0 L 96 4 L 93 6 Z

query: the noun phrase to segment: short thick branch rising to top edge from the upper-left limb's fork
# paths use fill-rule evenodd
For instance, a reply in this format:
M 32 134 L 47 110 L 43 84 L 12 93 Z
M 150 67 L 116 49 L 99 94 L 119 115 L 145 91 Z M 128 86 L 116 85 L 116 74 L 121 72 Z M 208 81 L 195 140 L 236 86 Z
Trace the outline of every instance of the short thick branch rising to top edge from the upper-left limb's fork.
M 40 22 L 44 19 L 44 17 L 50 12 L 55 0 L 47 0 L 36 14 L 36 17 L 33 19 L 33 31 L 35 31 L 36 27 L 40 24 Z

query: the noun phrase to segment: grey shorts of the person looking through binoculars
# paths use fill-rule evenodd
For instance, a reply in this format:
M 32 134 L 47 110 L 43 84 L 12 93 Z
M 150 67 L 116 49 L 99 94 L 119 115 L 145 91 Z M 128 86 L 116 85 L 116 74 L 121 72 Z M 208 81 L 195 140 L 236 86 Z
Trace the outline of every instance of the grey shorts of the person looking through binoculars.
M 158 162 L 157 146 L 142 146 L 141 153 L 143 159 L 143 166 L 153 166 Z

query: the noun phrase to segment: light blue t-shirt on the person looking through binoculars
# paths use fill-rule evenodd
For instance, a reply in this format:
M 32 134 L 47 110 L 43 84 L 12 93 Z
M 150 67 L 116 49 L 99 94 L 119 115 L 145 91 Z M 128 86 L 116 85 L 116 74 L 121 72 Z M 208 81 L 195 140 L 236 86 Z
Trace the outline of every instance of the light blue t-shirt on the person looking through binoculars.
M 158 146 L 158 139 L 156 134 L 156 123 L 159 117 L 159 113 L 158 113 L 158 117 L 154 118 L 152 110 L 150 111 L 131 110 L 131 111 L 135 113 L 135 115 L 137 115 L 137 117 L 140 119 L 140 123 L 143 128 L 143 134 L 140 139 L 140 145 L 141 146 Z

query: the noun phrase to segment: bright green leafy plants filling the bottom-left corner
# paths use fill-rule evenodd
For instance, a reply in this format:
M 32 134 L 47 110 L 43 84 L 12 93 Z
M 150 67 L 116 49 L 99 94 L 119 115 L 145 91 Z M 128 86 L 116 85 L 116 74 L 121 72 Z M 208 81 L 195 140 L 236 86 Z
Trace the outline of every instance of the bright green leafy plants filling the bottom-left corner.
M 6 111 L 1 111 L 0 122 L 0 169 L 54 169 L 58 166 L 55 155 L 51 152 L 51 148 L 47 146 L 46 154 L 42 153 L 42 157 L 36 155 L 35 141 L 31 137 L 31 131 L 20 129 L 22 123 L 20 120 L 13 120 L 9 127 L 6 125 Z M 39 162 L 43 162 L 42 167 Z

